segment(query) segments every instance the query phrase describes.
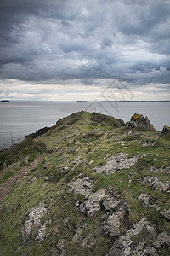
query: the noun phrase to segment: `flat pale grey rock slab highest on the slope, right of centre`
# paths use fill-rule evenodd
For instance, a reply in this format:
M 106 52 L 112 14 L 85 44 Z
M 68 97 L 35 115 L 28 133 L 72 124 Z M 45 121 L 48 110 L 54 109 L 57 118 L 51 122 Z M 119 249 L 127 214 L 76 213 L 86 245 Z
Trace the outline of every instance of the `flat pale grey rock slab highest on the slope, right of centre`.
M 118 170 L 122 169 L 129 169 L 131 166 L 133 166 L 138 161 L 138 156 L 133 156 L 132 158 L 128 158 L 128 154 L 124 153 L 118 153 L 114 156 L 109 157 L 105 165 L 103 166 L 95 166 L 94 171 L 95 172 L 103 172 L 106 175 L 115 173 Z

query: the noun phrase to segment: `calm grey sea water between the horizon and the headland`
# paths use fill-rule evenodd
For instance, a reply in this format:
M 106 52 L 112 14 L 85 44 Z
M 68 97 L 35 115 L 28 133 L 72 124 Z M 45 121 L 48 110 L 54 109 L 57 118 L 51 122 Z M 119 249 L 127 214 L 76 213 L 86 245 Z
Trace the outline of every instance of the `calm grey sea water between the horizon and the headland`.
M 77 111 L 105 113 L 130 119 L 133 113 L 148 116 L 160 131 L 170 125 L 170 102 L 0 102 L 0 149 Z

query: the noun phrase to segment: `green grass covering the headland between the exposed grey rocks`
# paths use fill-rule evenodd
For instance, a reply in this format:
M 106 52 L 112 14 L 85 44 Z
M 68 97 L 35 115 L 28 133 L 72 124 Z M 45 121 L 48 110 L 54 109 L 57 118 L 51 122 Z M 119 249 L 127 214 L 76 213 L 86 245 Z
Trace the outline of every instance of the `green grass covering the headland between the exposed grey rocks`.
M 161 172 L 161 167 L 170 166 L 170 142 L 158 139 L 155 131 L 135 131 L 138 134 L 127 135 L 127 129 L 122 127 L 122 121 L 107 118 L 92 113 L 76 113 L 68 118 L 59 120 L 47 133 L 34 140 L 26 141 L 14 146 L 12 151 L 0 153 L 1 165 L 8 161 L 8 165 L 20 161 L 26 165 L 41 154 L 43 160 L 31 170 L 28 177 L 20 179 L 3 199 L 0 218 L 0 255 L 52 255 L 56 253 L 56 244 L 59 239 L 65 239 L 66 255 L 104 255 L 112 246 L 109 236 L 102 236 L 99 227 L 102 223 L 102 211 L 94 214 L 94 218 L 87 218 L 77 210 L 77 201 L 84 201 L 83 195 L 67 193 L 68 183 L 80 177 L 90 177 L 94 181 L 93 191 L 107 189 L 111 186 L 121 193 L 122 199 L 127 201 L 129 219 L 132 224 L 141 218 L 147 218 L 156 225 L 158 231 L 165 230 L 170 234 L 170 224 L 159 212 L 144 207 L 139 201 L 141 193 L 149 193 L 155 199 L 161 210 L 169 207 L 169 195 L 149 184 L 141 185 L 141 177 L 159 177 L 165 182 L 169 179 L 167 174 Z M 118 127 L 120 126 L 120 127 Z M 156 141 L 154 146 L 143 144 L 146 140 Z M 119 170 L 114 174 L 105 175 L 94 172 L 94 167 L 104 164 L 108 157 L 119 152 L 129 154 L 129 157 L 139 155 L 138 162 L 129 169 Z M 149 153 L 142 158 L 143 154 Z M 10 155 L 10 156 L 9 156 Z M 9 159 L 8 159 L 9 157 Z M 82 163 L 72 164 L 79 158 Z M 92 165 L 88 163 L 94 160 Z M 0 182 L 5 182 L 16 172 L 20 172 L 20 165 L 0 172 Z M 62 168 L 64 175 L 61 174 Z M 151 172 L 150 167 L 155 166 L 157 171 Z M 81 176 L 80 176 L 81 174 Z M 47 179 L 48 177 L 48 179 Z M 131 177 L 131 183 L 129 183 Z M 44 201 L 48 214 L 42 222 L 48 221 L 45 241 L 41 245 L 32 242 L 26 246 L 21 241 L 20 228 L 26 219 L 26 212 Z M 86 224 L 83 237 L 93 247 L 82 247 L 82 243 L 75 244 L 72 237 L 81 224 Z M 36 234 L 32 235 L 36 236 Z M 143 235 L 136 237 L 142 239 Z M 161 247 L 161 255 L 167 255 L 167 248 Z M 54 254 L 54 255 L 55 255 Z

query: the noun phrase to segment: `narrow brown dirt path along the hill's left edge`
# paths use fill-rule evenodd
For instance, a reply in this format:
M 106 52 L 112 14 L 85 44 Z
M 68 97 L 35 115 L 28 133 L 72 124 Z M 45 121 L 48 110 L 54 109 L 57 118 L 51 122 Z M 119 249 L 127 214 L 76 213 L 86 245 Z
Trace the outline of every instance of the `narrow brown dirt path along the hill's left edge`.
M 37 166 L 37 164 L 42 160 L 42 157 L 34 160 L 30 166 L 24 166 L 20 172 L 14 174 L 14 176 L 10 177 L 6 183 L 0 185 L 0 203 L 3 198 L 8 195 L 8 192 L 14 187 L 14 185 L 18 182 L 18 180 L 28 174 L 33 168 Z

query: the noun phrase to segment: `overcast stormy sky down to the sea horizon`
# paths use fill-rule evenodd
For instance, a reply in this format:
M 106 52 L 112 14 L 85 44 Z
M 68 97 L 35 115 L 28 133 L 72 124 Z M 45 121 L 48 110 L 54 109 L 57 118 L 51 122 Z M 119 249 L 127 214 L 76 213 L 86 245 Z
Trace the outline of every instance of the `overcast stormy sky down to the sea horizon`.
M 170 100 L 169 0 L 0 0 L 0 100 Z

